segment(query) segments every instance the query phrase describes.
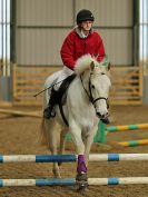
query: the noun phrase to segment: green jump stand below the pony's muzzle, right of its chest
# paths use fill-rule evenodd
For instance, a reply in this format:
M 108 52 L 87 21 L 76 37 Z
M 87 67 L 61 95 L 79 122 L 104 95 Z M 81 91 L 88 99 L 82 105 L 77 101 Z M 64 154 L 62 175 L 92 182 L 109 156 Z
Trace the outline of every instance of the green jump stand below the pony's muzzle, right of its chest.
M 105 142 L 106 141 L 106 124 L 102 121 L 99 121 L 98 124 L 98 130 L 95 136 L 93 142 Z

